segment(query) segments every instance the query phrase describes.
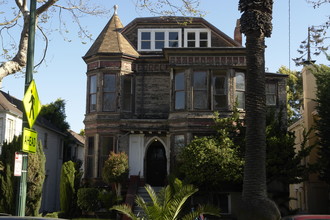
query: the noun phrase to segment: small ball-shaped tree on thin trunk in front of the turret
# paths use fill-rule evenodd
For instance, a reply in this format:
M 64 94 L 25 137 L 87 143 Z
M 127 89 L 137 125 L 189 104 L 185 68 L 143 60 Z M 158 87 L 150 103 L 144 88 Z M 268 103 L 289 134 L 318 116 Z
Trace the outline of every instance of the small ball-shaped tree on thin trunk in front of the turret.
M 110 152 L 109 158 L 104 162 L 102 179 L 105 183 L 114 184 L 117 197 L 121 193 L 121 183 L 128 177 L 128 156 L 125 152 L 116 154 Z

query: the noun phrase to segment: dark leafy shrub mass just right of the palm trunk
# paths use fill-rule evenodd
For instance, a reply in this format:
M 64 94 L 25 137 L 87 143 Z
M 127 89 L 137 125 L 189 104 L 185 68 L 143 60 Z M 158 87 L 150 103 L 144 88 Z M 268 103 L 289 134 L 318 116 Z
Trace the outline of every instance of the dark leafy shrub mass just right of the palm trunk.
M 306 158 L 314 146 L 306 146 L 305 142 L 299 151 L 295 151 L 295 136 L 287 131 L 282 124 L 282 113 L 275 117 L 274 113 L 269 113 L 266 127 L 266 171 L 267 183 L 273 181 L 282 184 L 301 183 L 308 178 L 309 167 L 301 164 L 302 159 Z

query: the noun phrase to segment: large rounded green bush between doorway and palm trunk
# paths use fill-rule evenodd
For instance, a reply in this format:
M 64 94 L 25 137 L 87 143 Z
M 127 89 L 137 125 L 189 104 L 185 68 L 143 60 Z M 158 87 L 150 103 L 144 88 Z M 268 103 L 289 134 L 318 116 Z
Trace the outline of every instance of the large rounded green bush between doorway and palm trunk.
M 198 187 L 217 187 L 223 182 L 242 180 L 243 159 L 239 142 L 240 122 L 216 115 L 217 136 L 195 138 L 179 154 L 184 180 Z

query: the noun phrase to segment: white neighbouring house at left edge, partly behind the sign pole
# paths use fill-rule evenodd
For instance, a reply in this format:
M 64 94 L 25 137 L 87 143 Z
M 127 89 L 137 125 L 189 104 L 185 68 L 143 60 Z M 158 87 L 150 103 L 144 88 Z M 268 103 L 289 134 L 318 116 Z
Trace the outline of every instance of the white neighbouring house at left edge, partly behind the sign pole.
M 22 101 L 0 91 L 1 137 L 11 141 L 12 135 L 22 133 L 23 117 Z M 13 123 L 10 122 L 13 121 Z M 6 124 L 5 124 L 6 122 Z M 41 116 L 37 118 L 33 128 L 38 132 L 46 156 L 46 178 L 43 185 L 42 205 L 40 212 L 60 210 L 60 177 L 63 163 L 63 144 L 66 134 Z M 1 139 L 1 144 L 4 139 Z

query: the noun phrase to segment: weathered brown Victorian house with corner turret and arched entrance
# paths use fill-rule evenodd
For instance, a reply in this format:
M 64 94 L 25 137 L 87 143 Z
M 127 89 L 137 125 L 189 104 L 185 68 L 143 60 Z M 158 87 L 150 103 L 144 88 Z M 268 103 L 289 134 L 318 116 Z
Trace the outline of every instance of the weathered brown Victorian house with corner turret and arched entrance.
M 214 133 L 215 111 L 227 116 L 237 100 L 244 114 L 246 51 L 238 30 L 232 39 L 203 18 L 166 16 L 123 27 L 115 12 L 83 57 L 85 177 L 99 179 L 109 152 L 124 151 L 130 176 L 162 186 L 180 149 Z M 286 108 L 286 76 L 267 73 L 266 81 L 267 105 Z

